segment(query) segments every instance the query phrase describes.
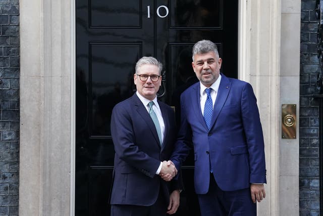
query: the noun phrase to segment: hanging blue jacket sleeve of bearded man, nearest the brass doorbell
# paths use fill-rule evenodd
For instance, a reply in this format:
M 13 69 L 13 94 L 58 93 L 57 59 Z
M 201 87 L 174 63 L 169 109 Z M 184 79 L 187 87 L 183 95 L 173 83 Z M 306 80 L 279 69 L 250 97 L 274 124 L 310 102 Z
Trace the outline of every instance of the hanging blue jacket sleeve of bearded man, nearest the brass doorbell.
M 241 115 L 249 152 L 250 183 L 266 183 L 262 128 L 256 97 L 249 83 L 242 90 Z

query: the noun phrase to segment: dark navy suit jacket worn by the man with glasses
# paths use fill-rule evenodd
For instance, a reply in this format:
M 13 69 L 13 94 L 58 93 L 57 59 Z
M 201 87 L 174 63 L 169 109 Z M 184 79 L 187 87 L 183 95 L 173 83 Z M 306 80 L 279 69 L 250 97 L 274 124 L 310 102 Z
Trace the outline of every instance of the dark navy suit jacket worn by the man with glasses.
M 159 190 L 168 203 L 170 192 L 181 188 L 177 181 L 165 182 L 155 174 L 160 161 L 170 159 L 176 139 L 173 109 L 159 101 L 158 105 L 165 122 L 162 147 L 155 125 L 136 94 L 112 111 L 116 154 L 111 204 L 149 206 L 156 201 Z

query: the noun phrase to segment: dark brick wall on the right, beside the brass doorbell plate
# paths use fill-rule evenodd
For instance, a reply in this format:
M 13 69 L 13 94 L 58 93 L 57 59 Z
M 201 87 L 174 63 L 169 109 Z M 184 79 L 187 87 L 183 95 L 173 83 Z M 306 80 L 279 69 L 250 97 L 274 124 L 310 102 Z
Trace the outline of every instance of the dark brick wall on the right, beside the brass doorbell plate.
M 301 2 L 299 205 L 300 215 L 319 215 L 316 1 Z

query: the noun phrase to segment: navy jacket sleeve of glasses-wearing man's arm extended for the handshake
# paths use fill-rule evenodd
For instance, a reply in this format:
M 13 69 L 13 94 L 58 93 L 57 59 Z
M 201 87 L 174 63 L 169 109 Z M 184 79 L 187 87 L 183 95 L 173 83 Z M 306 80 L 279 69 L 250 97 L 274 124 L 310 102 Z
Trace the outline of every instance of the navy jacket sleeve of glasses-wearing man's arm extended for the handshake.
M 116 157 L 153 178 L 160 165 L 160 161 L 141 151 L 134 143 L 132 125 L 132 118 L 129 112 L 124 107 L 117 105 L 113 109 L 111 117 L 111 135 Z

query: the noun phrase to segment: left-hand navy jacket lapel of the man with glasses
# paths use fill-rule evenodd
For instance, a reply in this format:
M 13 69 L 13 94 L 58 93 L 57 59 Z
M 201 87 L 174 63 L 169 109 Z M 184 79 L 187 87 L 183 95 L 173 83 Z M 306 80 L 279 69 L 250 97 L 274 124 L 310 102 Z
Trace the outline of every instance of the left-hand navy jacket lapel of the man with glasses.
M 132 98 L 133 98 L 133 101 L 134 101 L 134 106 L 135 106 L 136 111 L 143 118 L 143 120 L 148 124 L 148 128 L 151 131 L 153 137 L 155 138 L 156 144 L 160 147 L 159 138 L 158 138 L 158 135 L 157 135 L 155 124 L 153 123 L 149 113 L 147 112 L 147 109 L 144 107 L 142 102 L 139 100 L 136 93 L 134 94 L 134 96 L 132 96 Z

